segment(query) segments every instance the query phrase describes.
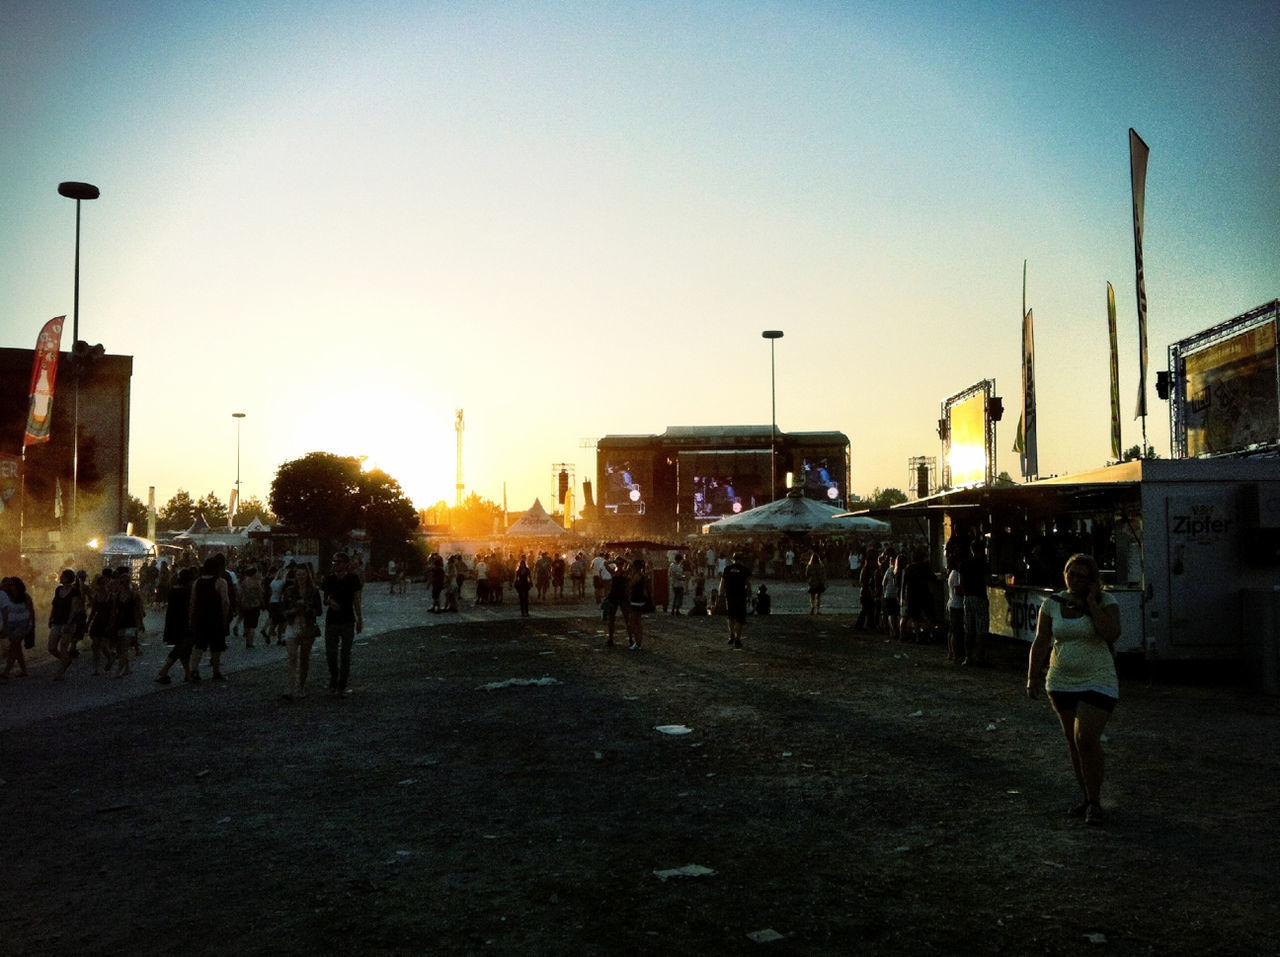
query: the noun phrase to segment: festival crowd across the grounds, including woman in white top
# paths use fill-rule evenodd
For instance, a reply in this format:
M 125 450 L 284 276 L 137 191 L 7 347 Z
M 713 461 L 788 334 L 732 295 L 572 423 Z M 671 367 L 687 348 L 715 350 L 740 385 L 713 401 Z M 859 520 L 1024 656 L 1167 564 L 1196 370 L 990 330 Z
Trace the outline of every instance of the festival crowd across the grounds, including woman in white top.
M 828 589 L 828 564 L 847 563 L 858 589 L 860 610 L 852 629 L 877 632 L 890 640 L 933 641 L 945 638 L 947 660 L 984 665 L 988 631 L 988 569 L 980 537 L 952 537 L 946 546 L 945 577 L 937 576 L 924 544 L 867 545 L 808 549 L 801 562 L 790 546 L 771 545 L 739 549 L 732 554 L 714 548 L 672 549 L 660 569 L 641 557 L 609 554 L 605 549 L 588 559 L 585 551 L 557 554 L 554 549 L 530 553 L 490 550 L 472 566 L 461 554 L 428 557 L 425 581 L 430 612 L 458 612 L 463 587 L 475 583 L 475 606 L 500 605 L 509 582 L 522 615 L 530 604 L 584 603 L 586 583 L 602 614 L 605 645 L 616 644 L 621 618 L 627 646 L 640 650 L 645 641 L 646 614 L 662 605 L 668 614 L 722 614 L 728 623 L 728 645 L 742 647 L 749 615 L 769 614 L 772 596 L 763 582 L 753 590 L 753 576 L 771 572 L 804 581 L 809 613 L 822 613 Z M 404 572 L 388 566 L 392 595 L 406 594 Z M 660 571 L 658 594 L 654 572 Z M 1102 731 L 1119 699 L 1114 645 L 1120 635 L 1115 599 L 1101 589 L 1097 563 L 1084 554 L 1065 566 L 1066 589 L 1044 601 L 1036 640 L 1028 656 L 1027 695 L 1043 687 L 1066 737 L 1071 768 L 1080 798 L 1070 812 L 1087 823 L 1103 820 Z M 169 646 L 155 676 L 173 682 L 180 669 L 184 682 L 204 679 L 201 665 L 209 661 L 209 679 L 225 681 L 221 658 L 233 638 L 244 649 L 257 641 L 287 649 L 287 674 L 282 699 L 294 701 L 308 691 L 315 641 L 324 636 L 329 693 L 351 693 L 351 654 L 355 636 L 364 628 L 365 574 L 358 558 L 337 553 L 329 572 L 320 578 L 310 562 L 287 560 L 260 567 L 247 559 L 232 569 L 223 554 L 202 563 L 145 563 L 138 573 L 131 567 L 104 568 L 90 578 L 84 571 L 63 569 L 49 596 L 47 650 L 58 661 L 55 681 L 64 681 L 81 646 L 88 642 L 93 674 L 125 678 L 141 655 L 146 610 L 164 610 L 163 640 Z M 568 590 L 566 592 L 566 582 Z M 708 583 L 714 585 L 708 590 Z M 685 599 L 690 608 L 685 610 Z M 321 621 L 324 628 L 321 629 Z M 35 646 L 37 606 L 20 577 L 0 581 L 0 637 L 6 642 L 0 681 L 26 677 L 26 651 Z

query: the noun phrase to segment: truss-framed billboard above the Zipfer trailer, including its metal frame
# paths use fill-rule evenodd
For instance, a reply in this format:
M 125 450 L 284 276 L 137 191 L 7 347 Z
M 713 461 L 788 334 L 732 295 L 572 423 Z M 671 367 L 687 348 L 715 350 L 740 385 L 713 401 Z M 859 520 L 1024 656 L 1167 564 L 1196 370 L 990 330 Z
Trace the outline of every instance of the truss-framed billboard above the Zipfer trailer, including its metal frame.
M 1280 448 L 1277 321 L 1280 301 L 1272 299 L 1169 347 L 1169 371 L 1156 389 L 1170 400 L 1174 458 Z

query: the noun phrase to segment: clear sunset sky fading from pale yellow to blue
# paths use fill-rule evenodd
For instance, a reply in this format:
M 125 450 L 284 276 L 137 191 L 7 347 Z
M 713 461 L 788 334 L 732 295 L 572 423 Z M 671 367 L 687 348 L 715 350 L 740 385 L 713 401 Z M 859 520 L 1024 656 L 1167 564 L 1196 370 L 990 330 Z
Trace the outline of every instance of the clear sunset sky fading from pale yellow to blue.
M 1277 46 L 1274 3 L 0 0 L 0 345 L 72 315 L 82 180 L 142 500 L 323 450 L 452 503 L 462 409 L 466 491 L 549 504 L 600 436 L 768 425 L 765 329 L 778 429 L 869 495 L 983 379 L 1018 473 L 1025 262 L 1064 475 L 1110 455 L 1107 281 L 1142 440 L 1133 127 L 1167 454 L 1167 345 L 1280 296 Z

